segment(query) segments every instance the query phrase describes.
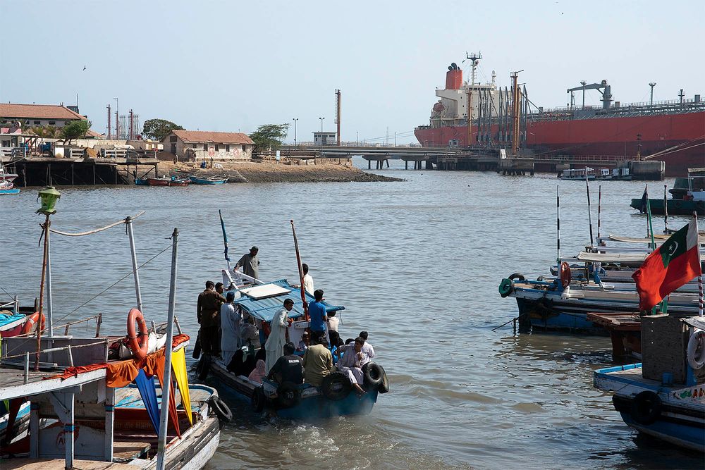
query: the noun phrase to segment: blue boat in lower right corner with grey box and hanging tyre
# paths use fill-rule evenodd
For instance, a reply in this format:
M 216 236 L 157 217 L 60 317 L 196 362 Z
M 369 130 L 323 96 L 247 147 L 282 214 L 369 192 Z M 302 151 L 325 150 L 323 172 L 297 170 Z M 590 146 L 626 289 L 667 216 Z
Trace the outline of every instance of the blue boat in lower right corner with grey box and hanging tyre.
M 705 452 L 705 321 L 642 318 L 642 363 L 594 372 L 594 387 L 614 392 L 627 426 Z M 699 345 L 698 345 L 699 343 Z

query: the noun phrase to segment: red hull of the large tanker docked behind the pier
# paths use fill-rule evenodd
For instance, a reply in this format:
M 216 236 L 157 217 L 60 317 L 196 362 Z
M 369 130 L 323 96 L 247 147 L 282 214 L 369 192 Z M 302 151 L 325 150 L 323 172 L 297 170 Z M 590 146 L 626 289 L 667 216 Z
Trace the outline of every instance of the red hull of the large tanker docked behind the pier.
M 497 125 L 491 126 L 491 134 L 494 142 L 501 142 Z M 415 135 L 424 147 L 446 147 L 450 140 L 466 147 L 468 140 L 466 126 L 417 128 Z M 635 158 L 637 152 L 649 156 L 663 151 L 654 160 L 666 162 L 666 176 L 682 176 L 688 168 L 705 166 L 705 112 L 534 121 L 527 123 L 526 144 L 537 154 L 556 155 Z

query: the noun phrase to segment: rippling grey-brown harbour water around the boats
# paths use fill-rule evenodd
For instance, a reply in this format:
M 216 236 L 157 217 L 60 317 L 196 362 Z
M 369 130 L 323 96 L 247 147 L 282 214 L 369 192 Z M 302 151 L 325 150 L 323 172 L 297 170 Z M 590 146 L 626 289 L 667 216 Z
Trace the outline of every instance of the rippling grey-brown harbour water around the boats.
M 592 371 L 611 361 L 607 338 L 491 330 L 517 315 L 515 301 L 498 295 L 501 278 L 545 275 L 556 257 L 557 184 L 562 253 L 589 241 L 584 183 L 403 171 L 398 161 L 381 173 L 407 180 L 61 189 L 52 217 L 60 230 L 147 211 L 135 221 L 142 263 L 168 248 L 179 228 L 177 315 L 193 337 L 197 294 L 223 266 L 218 209 L 231 255 L 258 245 L 264 279 L 298 277 L 288 223 L 295 219 L 316 287 L 348 307 L 341 335 L 369 331 L 391 383 L 372 416 L 268 421 L 228 399 L 235 422 L 223 428 L 209 468 L 491 469 L 517 460 L 527 469 L 701 468 L 700 455 L 627 428 L 611 396 L 594 390 Z M 601 233 L 644 235 L 644 217 L 628 206 L 644 183 L 601 184 Z M 591 183 L 595 233 L 597 187 Z M 663 194 L 661 183 L 649 187 L 652 197 Z M 35 199 L 36 190 L 0 199 L 0 286 L 30 302 L 41 273 Z M 673 218 L 671 226 L 684 223 Z M 654 224 L 662 230 L 662 219 Z M 53 235 L 51 247 L 55 317 L 103 312 L 103 331 L 122 334 L 135 303 L 131 278 L 72 311 L 130 272 L 124 228 Z M 166 319 L 170 254 L 140 270 L 148 321 Z

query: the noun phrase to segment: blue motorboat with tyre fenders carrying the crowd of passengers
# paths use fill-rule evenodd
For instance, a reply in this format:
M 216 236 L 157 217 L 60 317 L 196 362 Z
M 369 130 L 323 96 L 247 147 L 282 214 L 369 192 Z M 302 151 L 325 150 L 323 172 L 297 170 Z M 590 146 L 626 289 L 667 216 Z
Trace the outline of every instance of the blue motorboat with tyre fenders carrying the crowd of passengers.
M 264 284 L 256 284 L 252 278 L 249 281 L 250 286 L 255 285 L 238 289 L 241 297 L 235 299 L 235 307 L 243 314 L 252 316 L 262 331 L 262 326 L 271 323 L 276 312 L 281 310 L 284 300 L 292 299 L 294 307 L 288 316 L 294 321 L 287 328 L 287 334 L 291 342 L 298 344 L 302 333 L 309 326 L 308 321 L 302 320 L 304 311 L 300 287 L 294 287 L 286 280 Z M 307 302 L 313 302 L 314 297 L 308 293 L 305 293 L 305 296 Z M 345 309 L 326 302 L 324 304 L 327 312 Z M 261 342 L 264 344 L 264 337 Z M 342 373 L 331 373 L 320 387 L 306 383 L 279 385 L 266 379 L 260 384 L 247 378 L 255 366 L 257 348 L 259 344 L 252 345 L 250 342 L 248 347 L 243 347 L 242 352 L 236 352 L 234 359 L 236 364 L 249 364 L 249 366 L 241 366 L 243 369 L 240 371 L 228 370 L 228 364 L 223 364 L 219 358 L 203 356 L 197 366 L 197 376 L 204 380 L 210 375 L 228 392 L 235 392 L 235 395 L 241 399 L 250 401 L 256 412 L 266 410 L 285 419 L 307 420 L 369 414 L 377 401 L 378 394 L 388 391 L 384 369 L 373 363 L 369 363 L 369 366 L 365 364 L 363 368 L 365 376 L 363 388 L 366 392 L 361 397 L 352 391 L 350 380 Z M 335 353 L 336 349 L 333 348 L 334 358 Z

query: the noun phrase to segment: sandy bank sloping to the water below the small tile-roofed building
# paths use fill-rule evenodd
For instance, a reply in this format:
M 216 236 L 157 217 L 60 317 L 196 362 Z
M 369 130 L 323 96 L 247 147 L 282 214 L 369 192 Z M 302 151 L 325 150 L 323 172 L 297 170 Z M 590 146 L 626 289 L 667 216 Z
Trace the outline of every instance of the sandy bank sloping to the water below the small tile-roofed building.
M 370 182 L 401 181 L 399 178 L 365 173 L 359 168 L 341 163 L 287 164 L 276 161 L 251 163 L 220 163 L 222 168 L 198 167 L 195 163 L 159 162 L 159 174 L 188 173 L 195 176 L 223 176 L 229 183 L 282 182 Z

